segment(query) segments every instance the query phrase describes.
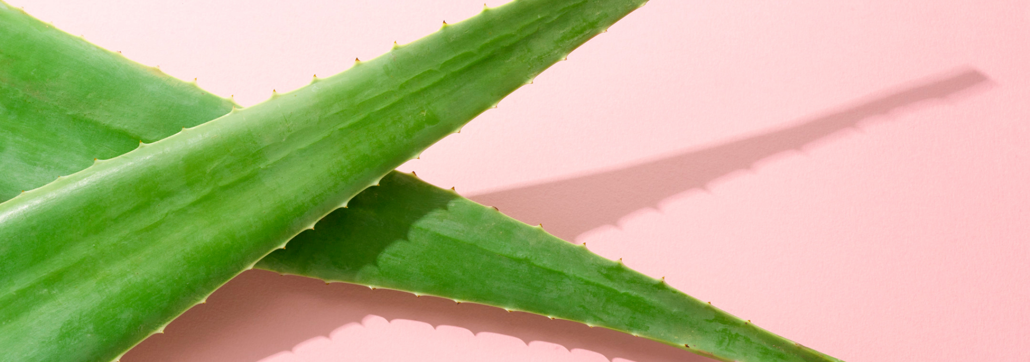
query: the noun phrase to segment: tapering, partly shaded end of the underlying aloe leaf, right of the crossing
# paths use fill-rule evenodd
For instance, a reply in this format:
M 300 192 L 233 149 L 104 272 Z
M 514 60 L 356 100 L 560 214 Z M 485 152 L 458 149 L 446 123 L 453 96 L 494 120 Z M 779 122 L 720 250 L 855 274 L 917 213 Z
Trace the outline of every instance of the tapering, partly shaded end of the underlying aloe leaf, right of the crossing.
M 400 172 L 255 267 L 577 321 L 723 361 L 839 361 Z

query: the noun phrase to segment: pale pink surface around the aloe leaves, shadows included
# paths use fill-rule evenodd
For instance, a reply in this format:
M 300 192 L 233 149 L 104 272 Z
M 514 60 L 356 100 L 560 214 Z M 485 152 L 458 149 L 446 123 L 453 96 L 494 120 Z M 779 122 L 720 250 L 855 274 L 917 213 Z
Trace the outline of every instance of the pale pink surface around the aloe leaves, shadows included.
M 243 105 L 482 7 L 10 3 Z M 1026 1 L 655 0 L 402 169 L 850 362 L 1027 361 L 1028 37 Z M 202 360 L 706 359 L 248 272 L 124 359 Z

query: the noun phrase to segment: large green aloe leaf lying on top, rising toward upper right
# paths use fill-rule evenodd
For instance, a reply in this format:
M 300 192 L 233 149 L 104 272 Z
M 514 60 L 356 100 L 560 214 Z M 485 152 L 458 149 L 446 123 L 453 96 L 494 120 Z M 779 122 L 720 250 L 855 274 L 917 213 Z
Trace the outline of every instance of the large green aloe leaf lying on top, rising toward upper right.
M 485 10 L 0 204 L 0 350 L 117 358 L 642 4 Z

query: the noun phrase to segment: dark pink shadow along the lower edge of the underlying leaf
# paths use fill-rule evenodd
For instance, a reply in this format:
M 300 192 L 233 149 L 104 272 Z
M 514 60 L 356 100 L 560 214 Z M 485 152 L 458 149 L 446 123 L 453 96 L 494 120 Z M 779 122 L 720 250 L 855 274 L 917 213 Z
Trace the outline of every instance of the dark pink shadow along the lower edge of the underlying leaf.
M 475 303 L 386 289 L 333 283 L 265 270 L 246 272 L 172 322 L 165 334 L 146 339 L 123 362 L 254 362 L 305 340 L 330 335 L 366 316 L 449 325 L 473 333 L 493 332 L 524 342 L 548 341 L 609 359 L 710 361 L 670 346 L 605 328 L 506 312 Z M 344 358 L 346 356 L 340 356 Z

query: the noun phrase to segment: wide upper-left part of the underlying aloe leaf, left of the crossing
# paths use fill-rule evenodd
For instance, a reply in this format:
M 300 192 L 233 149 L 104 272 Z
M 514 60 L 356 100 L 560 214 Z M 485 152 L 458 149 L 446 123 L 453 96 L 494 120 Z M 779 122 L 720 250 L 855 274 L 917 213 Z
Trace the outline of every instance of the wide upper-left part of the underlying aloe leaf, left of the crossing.
M 0 24 L 0 202 L 235 105 L 3 2 Z

